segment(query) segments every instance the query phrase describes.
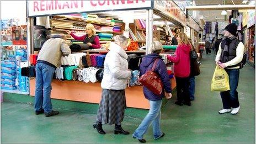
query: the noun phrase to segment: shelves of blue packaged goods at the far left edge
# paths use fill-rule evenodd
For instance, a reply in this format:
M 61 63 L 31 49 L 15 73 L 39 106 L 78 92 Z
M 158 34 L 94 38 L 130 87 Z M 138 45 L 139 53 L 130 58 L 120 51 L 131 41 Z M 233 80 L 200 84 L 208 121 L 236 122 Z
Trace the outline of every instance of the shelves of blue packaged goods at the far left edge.
M 1 23 L 1 90 L 29 94 L 29 78 L 21 74 L 21 68 L 28 65 L 26 26 L 18 26 L 15 19 Z

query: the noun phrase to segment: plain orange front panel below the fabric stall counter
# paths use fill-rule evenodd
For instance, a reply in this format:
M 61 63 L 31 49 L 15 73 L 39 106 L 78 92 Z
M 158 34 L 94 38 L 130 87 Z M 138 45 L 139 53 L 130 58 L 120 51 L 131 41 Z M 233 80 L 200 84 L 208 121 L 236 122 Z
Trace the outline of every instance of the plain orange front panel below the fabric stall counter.
M 172 88 L 176 87 L 172 78 Z M 35 95 L 35 78 L 30 79 L 30 95 Z M 52 81 L 51 98 L 76 102 L 100 103 L 102 88 L 100 83 L 84 83 L 79 81 Z M 126 105 L 130 108 L 150 109 L 148 100 L 143 95 L 142 86 L 125 89 Z

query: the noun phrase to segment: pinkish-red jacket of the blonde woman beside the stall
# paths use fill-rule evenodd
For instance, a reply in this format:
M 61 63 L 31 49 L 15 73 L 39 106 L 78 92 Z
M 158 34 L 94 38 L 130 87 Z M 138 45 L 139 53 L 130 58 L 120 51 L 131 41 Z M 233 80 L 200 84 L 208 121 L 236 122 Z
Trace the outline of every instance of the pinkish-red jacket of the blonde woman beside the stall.
M 190 45 L 178 45 L 175 56 L 167 56 L 168 60 L 174 62 L 174 76 L 189 77 L 190 74 Z

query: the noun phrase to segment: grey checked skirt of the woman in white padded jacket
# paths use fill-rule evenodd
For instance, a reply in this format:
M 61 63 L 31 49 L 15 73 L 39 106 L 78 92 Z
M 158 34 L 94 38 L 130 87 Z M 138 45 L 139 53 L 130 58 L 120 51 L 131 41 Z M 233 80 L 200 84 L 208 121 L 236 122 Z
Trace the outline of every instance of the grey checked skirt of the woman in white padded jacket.
M 125 90 L 102 89 L 97 120 L 102 124 L 121 125 L 126 108 Z

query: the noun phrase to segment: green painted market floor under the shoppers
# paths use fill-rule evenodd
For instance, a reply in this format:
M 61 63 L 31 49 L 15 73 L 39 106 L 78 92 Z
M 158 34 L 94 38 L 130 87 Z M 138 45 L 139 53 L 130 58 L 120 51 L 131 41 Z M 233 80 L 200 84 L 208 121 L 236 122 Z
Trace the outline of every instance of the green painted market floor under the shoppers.
M 204 55 L 200 68 L 192 106 L 175 105 L 176 97 L 169 100 L 162 108 L 161 119 L 162 131 L 166 136 L 154 140 L 150 127 L 144 137 L 147 143 L 255 143 L 254 68 L 247 65 L 240 71 L 238 95 L 241 110 L 237 115 L 217 113 L 222 109 L 221 98 L 218 92 L 210 91 L 215 68 L 214 54 Z M 103 125 L 106 135 L 98 134 L 92 127 L 96 115 L 87 110 L 65 109 L 65 106 L 55 106 L 57 103 L 54 102 L 54 109 L 59 110 L 60 114 L 46 118 L 44 115 L 35 115 L 33 105 L 13 102 L 15 100 L 8 98 L 5 101 L 5 97 L 1 106 L 2 143 L 138 142 L 131 134 L 114 135 L 113 126 L 109 125 Z M 86 108 L 87 104 L 77 103 L 77 106 L 81 105 Z M 140 116 L 130 115 L 136 111 L 140 111 Z M 146 110 L 129 109 L 126 112 L 122 126 L 132 133 L 146 115 Z

